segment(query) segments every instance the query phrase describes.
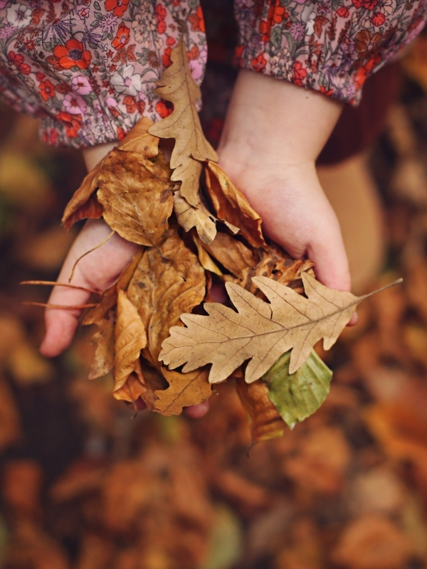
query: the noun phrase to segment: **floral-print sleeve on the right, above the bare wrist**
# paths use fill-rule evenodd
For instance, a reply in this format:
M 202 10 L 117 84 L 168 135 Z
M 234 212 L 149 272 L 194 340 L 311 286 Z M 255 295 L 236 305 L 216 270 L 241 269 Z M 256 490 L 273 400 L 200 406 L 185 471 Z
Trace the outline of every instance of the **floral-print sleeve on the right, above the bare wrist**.
M 238 65 L 355 105 L 426 21 L 427 0 L 235 0 Z

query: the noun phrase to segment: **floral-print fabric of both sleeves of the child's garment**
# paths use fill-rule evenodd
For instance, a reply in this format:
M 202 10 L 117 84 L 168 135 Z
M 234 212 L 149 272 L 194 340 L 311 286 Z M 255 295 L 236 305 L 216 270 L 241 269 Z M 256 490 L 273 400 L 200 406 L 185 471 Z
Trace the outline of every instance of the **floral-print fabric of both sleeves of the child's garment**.
M 217 0 L 209 0 L 209 5 Z M 235 0 L 239 66 L 356 103 L 370 73 L 421 31 L 427 0 Z M 201 83 L 199 0 L 0 0 L 0 95 L 53 145 L 122 139 L 171 112 L 156 80 L 184 33 Z

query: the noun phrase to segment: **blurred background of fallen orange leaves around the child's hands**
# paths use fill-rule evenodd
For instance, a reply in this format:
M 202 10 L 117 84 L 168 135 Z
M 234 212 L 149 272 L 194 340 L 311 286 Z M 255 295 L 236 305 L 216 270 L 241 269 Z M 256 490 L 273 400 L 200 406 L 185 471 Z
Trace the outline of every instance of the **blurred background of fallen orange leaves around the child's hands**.
M 204 85 L 214 143 L 235 74 L 224 34 Z M 22 303 L 49 291 L 19 282 L 56 279 L 78 230 L 61 213 L 85 169 L 0 106 L 1 568 L 427 567 L 427 37 L 375 77 L 320 176 L 338 209 L 364 196 L 342 218 L 358 292 L 404 284 L 322 353 L 334 371 L 322 408 L 253 448 L 232 386 L 201 420 L 134 416 L 112 378 L 88 381 L 93 330 L 56 359 L 38 353 L 43 309 Z

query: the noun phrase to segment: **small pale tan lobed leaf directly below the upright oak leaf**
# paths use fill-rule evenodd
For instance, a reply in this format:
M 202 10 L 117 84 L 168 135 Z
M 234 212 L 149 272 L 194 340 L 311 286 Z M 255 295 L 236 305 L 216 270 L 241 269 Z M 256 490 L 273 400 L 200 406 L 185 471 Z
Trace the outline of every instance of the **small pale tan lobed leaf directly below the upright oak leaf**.
M 181 192 L 176 191 L 174 193 L 174 212 L 184 231 L 189 231 L 193 227 L 196 228 L 204 243 L 212 243 L 215 239 L 215 218 L 200 200 L 196 207 L 190 206 L 188 201 L 181 196 Z

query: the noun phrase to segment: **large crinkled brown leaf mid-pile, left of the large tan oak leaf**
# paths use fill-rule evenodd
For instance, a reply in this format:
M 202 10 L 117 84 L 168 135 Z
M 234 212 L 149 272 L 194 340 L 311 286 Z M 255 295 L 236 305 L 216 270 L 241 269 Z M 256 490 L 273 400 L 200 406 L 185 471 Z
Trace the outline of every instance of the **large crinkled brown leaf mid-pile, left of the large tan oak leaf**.
M 203 301 L 205 289 L 203 267 L 176 230 L 169 230 L 159 247 L 144 252 L 127 288 L 127 297 L 137 307 L 147 330 L 148 357 L 151 354 L 154 365 L 159 366 L 160 346 L 169 335 L 169 328 L 179 324 L 182 312 L 191 312 Z

